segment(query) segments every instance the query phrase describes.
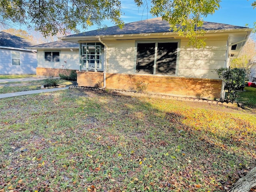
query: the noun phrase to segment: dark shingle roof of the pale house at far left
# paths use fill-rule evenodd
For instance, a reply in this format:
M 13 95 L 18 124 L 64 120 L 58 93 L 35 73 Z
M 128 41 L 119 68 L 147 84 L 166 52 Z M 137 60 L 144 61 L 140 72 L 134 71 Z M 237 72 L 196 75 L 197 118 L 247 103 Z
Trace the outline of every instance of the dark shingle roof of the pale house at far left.
M 32 43 L 24 38 L 6 32 L 0 32 L 0 46 L 25 49 L 25 47 L 32 45 Z

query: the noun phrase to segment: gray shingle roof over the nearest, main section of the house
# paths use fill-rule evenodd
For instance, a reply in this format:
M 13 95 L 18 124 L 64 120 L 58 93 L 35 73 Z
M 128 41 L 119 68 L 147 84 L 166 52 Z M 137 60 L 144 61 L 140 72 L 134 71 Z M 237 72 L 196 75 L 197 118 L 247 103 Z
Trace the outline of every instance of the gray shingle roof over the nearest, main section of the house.
M 202 26 L 202 29 L 204 30 L 224 30 L 241 28 L 246 27 L 221 24 L 215 22 L 204 22 L 204 25 Z M 66 37 L 141 34 L 159 32 L 172 32 L 170 31 L 170 24 L 162 20 L 161 17 L 124 24 L 124 27 L 122 29 L 120 29 L 118 26 L 112 26 L 108 28 L 102 28 L 98 30 L 74 34 Z

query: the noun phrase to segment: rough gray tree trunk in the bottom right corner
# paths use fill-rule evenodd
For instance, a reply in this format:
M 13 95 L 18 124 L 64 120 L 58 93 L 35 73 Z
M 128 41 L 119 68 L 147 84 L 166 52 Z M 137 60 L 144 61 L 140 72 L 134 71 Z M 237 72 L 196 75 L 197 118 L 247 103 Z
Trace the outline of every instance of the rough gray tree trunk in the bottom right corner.
M 228 192 L 249 192 L 256 186 L 256 167 L 240 178 Z

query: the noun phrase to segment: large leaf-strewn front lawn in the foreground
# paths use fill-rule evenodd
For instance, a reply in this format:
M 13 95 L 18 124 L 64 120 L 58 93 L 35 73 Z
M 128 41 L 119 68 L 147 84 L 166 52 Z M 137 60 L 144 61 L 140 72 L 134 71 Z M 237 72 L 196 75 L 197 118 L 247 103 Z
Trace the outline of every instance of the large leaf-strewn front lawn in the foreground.
M 256 166 L 240 108 L 69 89 L 0 115 L 0 191 L 224 192 Z

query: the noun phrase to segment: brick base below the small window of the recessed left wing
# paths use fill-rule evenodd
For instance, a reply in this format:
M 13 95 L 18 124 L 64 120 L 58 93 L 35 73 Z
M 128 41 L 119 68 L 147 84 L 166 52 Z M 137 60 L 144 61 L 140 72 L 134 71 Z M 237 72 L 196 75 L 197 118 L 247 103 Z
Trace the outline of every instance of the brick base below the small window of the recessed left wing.
M 60 78 L 59 76 L 60 73 L 68 76 L 70 72 L 71 70 L 66 70 L 66 69 L 54 69 L 54 68 L 42 68 L 42 67 L 36 68 L 37 77 Z

